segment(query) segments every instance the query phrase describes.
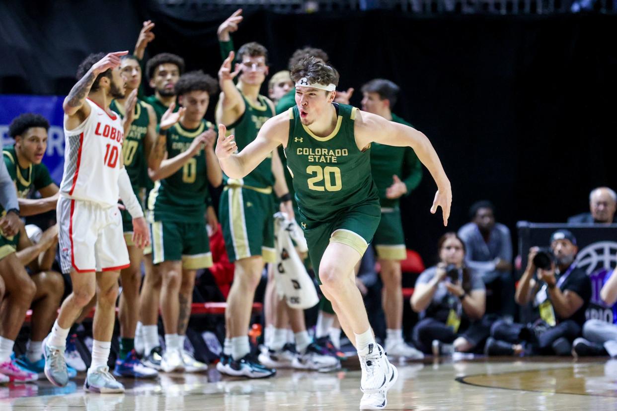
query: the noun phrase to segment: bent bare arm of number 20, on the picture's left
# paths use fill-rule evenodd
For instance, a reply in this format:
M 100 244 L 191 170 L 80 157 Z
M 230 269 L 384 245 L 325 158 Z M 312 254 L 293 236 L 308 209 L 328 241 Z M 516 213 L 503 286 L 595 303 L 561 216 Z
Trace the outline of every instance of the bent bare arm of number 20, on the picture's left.
M 225 136 L 227 129 L 218 124 L 218 140 L 215 153 L 223 172 L 233 178 L 244 178 L 268 157 L 280 144 L 287 145 L 289 134 L 289 115 L 282 113 L 266 121 L 251 144 L 236 153 L 238 146 L 233 134 Z

